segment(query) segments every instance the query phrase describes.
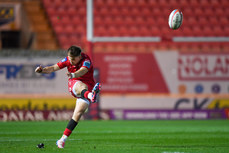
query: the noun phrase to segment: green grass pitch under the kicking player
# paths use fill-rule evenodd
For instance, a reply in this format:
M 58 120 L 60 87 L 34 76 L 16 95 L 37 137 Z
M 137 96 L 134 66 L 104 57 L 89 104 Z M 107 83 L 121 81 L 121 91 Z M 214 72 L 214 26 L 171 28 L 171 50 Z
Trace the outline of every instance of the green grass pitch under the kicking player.
M 228 120 L 80 121 L 64 149 L 67 121 L 0 122 L 1 153 L 229 153 Z M 45 148 L 37 148 L 43 142 Z

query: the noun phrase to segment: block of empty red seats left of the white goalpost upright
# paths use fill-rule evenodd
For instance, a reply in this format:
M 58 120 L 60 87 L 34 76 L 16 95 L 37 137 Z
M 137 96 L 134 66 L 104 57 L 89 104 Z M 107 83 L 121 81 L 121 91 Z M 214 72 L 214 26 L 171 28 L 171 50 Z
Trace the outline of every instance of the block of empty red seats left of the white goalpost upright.
M 72 44 L 84 47 L 86 35 L 86 1 L 43 0 L 44 8 L 56 33 L 60 47 Z

